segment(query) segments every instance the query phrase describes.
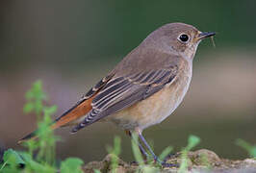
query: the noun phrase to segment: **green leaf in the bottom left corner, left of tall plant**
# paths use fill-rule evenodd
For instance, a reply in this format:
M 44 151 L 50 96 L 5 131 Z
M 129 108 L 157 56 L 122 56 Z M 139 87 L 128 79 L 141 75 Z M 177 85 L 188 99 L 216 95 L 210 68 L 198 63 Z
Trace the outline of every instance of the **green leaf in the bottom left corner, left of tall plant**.
M 4 153 L 3 160 L 7 162 L 8 164 L 24 164 L 25 162 L 22 160 L 22 158 L 18 155 L 17 152 L 15 152 L 13 149 L 9 149 Z

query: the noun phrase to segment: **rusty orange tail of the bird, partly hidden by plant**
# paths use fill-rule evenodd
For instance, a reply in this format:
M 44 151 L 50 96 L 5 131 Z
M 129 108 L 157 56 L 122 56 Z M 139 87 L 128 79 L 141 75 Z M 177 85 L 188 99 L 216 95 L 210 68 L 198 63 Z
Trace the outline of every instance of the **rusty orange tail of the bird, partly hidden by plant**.
M 95 96 L 95 95 L 94 95 Z M 94 96 L 90 97 L 90 99 L 82 101 L 81 103 L 77 104 L 70 110 L 66 111 L 62 116 L 57 118 L 55 122 L 51 125 L 51 129 L 55 130 L 59 127 L 69 126 L 76 124 L 81 118 L 83 118 L 90 110 L 91 110 L 91 101 Z M 18 143 L 22 143 L 31 138 L 37 138 L 37 130 L 33 133 L 29 134 L 28 136 L 23 137 L 18 141 Z

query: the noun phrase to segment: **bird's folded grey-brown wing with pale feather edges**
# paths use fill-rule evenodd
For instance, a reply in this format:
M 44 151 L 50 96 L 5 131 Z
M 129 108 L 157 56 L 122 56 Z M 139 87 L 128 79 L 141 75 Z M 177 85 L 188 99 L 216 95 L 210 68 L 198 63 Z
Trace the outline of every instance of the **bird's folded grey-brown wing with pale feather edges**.
M 173 64 L 167 69 L 154 69 L 111 79 L 95 95 L 91 111 L 73 128 L 72 133 L 149 97 L 174 81 L 177 71 L 178 65 Z

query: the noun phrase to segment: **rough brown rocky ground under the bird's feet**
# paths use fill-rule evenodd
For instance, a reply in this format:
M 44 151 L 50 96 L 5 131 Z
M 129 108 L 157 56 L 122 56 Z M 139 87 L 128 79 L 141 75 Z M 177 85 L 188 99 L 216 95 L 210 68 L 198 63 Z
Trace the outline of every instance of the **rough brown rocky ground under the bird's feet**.
M 112 156 L 108 155 L 103 161 L 91 161 L 83 167 L 83 170 L 85 173 L 94 173 L 94 169 L 98 169 L 102 173 L 111 172 L 111 158 Z M 256 159 L 245 159 L 243 161 L 220 159 L 216 153 L 206 149 L 189 152 L 188 158 L 188 168 L 185 172 L 189 173 L 256 173 Z M 181 153 L 171 155 L 166 159 L 166 162 L 180 164 Z M 118 159 L 117 173 L 132 173 L 137 170 L 139 170 L 137 163 L 127 163 Z M 150 172 L 176 173 L 178 170 L 177 167 L 166 167 L 150 169 Z

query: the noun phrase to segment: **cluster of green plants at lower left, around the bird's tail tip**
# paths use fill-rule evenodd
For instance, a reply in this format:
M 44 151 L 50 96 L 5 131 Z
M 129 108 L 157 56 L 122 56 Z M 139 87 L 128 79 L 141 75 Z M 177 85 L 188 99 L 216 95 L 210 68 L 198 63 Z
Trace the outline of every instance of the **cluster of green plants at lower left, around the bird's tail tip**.
M 23 111 L 25 113 L 34 112 L 37 115 L 38 130 L 36 134 L 38 140 L 30 139 L 24 142 L 26 151 L 7 150 L 3 157 L 4 162 L 0 164 L 0 172 L 15 173 L 22 169 L 26 173 L 55 173 L 60 169 L 62 173 L 82 173 L 81 165 L 84 162 L 80 159 L 68 158 L 61 162 L 60 168 L 56 166 L 55 146 L 59 137 L 54 136 L 50 125 L 52 123 L 51 116 L 57 111 L 57 107 L 45 105 L 47 96 L 42 90 L 40 81 L 34 83 L 32 88 L 27 91 L 26 99 L 27 103 Z

